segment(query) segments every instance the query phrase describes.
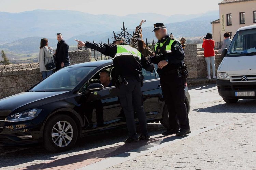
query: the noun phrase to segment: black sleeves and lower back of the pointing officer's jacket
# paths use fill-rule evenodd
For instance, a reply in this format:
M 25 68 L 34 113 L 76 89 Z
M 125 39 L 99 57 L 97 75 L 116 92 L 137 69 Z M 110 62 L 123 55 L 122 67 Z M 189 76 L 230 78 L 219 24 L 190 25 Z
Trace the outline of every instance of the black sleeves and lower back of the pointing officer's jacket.
M 121 45 L 128 44 L 123 43 Z M 146 69 L 147 71 L 154 71 L 154 65 L 148 62 L 143 56 L 141 56 L 141 58 L 131 55 L 121 55 L 115 57 L 117 53 L 117 45 L 115 44 L 97 44 L 87 41 L 85 46 L 112 57 L 116 70 L 116 76 L 122 75 L 123 77 L 136 77 L 138 74 L 142 74 L 142 68 Z

